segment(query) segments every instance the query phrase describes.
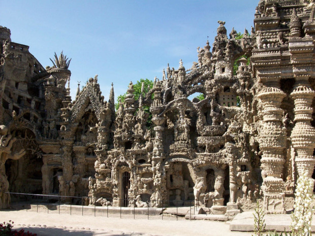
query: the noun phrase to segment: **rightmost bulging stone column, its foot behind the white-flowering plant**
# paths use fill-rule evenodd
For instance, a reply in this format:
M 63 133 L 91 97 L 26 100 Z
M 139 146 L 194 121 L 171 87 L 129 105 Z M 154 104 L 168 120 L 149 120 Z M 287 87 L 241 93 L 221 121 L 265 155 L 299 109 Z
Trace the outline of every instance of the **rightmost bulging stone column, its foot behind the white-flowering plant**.
M 313 56 L 312 38 L 294 38 L 289 41 L 289 50 L 293 64 L 295 85 L 291 93 L 294 100 L 295 126 L 291 133 L 291 141 L 295 150 L 295 163 L 298 176 L 306 174 L 311 178 L 315 159 L 313 151 L 315 148 L 315 128 L 312 127 L 313 108 L 312 100 L 315 91 L 309 84 L 312 73 Z

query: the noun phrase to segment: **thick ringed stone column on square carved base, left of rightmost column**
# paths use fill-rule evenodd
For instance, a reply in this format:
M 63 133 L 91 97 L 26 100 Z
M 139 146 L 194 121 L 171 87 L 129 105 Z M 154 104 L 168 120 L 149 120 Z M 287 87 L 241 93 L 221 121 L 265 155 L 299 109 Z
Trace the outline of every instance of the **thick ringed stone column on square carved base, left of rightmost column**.
M 279 88 L 280 75 L 265 75 L 264 88 L 258 95 L 263 107 L 263 121 L 259 139 L 262 151 L 264 208 L 266 213 L 285 213 L 283 180 L 281 178 L 285 158 L 286 132 L 282 123 L 281 101 L 286 94 Z

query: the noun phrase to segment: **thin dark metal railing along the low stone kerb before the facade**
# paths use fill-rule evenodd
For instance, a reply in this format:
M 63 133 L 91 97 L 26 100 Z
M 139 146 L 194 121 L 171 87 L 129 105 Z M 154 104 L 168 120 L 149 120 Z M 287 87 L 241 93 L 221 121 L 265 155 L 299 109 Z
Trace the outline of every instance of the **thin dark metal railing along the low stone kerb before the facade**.
M 171 200 L 165 202 L 163 200 L 146 200 L 139 201 L 136 199 L 128 199 L 128 207 L 124 207 L 122 198 L 104 198 L 102 206 L 96 206 L 97 198 L 86 196 L 61 196 L 47 194 L 31 194 L 6 192 L 11 195 L 11 208 L 16 210 L 35 211 L 49 213 L 68 213 L 70 215 L 94 215 L 106 217 L 132 217 L 134 219 L 183 219 L 182 216 L 192 219 L 192 215 L 198 210 L 198 204 L 194 200 Z M 91 201 L 91 202 L 90 202 Z M 89 203 L 87 206 L 86 204 Z M 92 203 L 93 205 L 90 205 Z M 137 204 L 141 205 L 138 207 Z M 160 206 L 160 207 L 154 207 Z M 35 208 L 35 209 L 34 209 Z M 47 208 L 47 209 L 46 209 Z M 166 211 L 167 209 L 167 211 Z M 176 209 L 176 212 L 175 212 Z M 186 211 L 187 210 L 187 211 Z M 167 213 L 164 213 L 166 211 Z

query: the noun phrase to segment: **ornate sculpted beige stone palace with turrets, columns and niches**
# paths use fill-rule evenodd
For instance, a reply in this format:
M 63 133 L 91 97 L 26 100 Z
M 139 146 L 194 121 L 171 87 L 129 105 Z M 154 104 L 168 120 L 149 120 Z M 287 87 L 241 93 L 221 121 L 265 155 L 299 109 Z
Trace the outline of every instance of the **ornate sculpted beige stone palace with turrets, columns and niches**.
M 138 99 L 131 82 L 116 112 L 113 87 L 106 102 L 90 78 L 72 101 L 70 60 L 45 69 L 0 27 L 0 208 L 11 191 L 285 212 L 314 170 L 314 16 L 310 0 L 261 0 L 250 33 L 218 21 L 192 68 L 168 66 Z

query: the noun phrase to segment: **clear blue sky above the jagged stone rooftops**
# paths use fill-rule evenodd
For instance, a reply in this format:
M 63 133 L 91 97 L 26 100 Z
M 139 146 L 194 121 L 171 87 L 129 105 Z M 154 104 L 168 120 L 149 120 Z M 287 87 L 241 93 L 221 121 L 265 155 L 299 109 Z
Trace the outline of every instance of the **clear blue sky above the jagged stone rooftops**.
M 186 69 L 198 61 L 197 47 L 216 35 L 217 21 L 250 32 L 259 0 L 223 1 L 14 1 L 1 0 L 0 25 L 11 29 L 11 40 L 29 46 L 45 67 L 63 50 L 70 63 L 71 95 L 77 81 L 99 75 L 108 99 L 130 81 L 162 78 L 167 63 L 175 69 L 182 59 Z M 212 50 L 212 49 L 210 49 Z

